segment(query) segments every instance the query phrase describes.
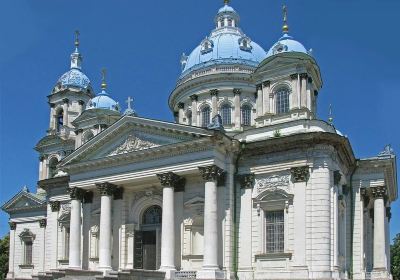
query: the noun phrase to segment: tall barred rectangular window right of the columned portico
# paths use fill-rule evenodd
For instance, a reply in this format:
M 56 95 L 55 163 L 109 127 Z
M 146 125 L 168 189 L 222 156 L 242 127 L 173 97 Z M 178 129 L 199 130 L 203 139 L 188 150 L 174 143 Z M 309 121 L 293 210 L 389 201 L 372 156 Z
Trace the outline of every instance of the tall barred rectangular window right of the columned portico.
M 266 226 L 266 252 L 281 253 L 284 251 L 285 243 L 285 221 L 284 212 L 266 211 L 265 212 Z

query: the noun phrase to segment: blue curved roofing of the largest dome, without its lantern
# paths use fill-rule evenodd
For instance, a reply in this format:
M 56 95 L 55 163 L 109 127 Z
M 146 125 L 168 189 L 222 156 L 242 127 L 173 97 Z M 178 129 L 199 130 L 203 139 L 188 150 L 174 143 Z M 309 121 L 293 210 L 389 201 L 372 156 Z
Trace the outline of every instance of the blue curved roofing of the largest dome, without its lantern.
M 247 40 L 247 45 L 243 45 L 243 40 Z M 204 49 L 205 41 L 210 45 L 209 50 Z M 257 43 L 251 42 L 238 29 L 226 28 L 214 31 L 192 51 L 183 74 L 213 64 L 245 64 L 256 67 L 265 57 L 264 49 Z

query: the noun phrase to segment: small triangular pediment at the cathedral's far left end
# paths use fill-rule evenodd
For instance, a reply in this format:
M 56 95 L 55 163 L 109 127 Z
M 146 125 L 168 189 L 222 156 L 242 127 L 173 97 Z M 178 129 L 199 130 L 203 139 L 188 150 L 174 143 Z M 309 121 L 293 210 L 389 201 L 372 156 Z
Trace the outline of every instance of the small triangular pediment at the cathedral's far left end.
M 41 208 L 45 205 L 44 197 L 40 197 L 35 194 L 31 194 L 26 190 L 20 191 L 12 199 L 6 202 L 2 209 L 8 213 L 29 210 L 34 208 Z

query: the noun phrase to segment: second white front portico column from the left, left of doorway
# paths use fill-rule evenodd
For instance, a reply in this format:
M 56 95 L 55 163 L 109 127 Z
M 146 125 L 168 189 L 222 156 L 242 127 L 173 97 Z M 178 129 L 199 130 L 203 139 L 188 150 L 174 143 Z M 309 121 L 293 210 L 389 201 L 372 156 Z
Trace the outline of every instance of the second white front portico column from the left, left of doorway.
M 116 186 L 108 182 L 96 185 L 101 195 L 99 269 L 111 270 L 111 207 Z

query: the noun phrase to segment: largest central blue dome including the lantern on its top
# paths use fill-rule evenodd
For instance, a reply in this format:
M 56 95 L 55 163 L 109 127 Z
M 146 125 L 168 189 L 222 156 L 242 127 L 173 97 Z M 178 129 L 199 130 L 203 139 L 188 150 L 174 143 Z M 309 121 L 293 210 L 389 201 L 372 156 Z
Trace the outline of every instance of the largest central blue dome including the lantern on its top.
M 228 5 L 219 9 L 215 17 L 216 28 L 182 60 L 182 75 L 215 64 L 244 64 L 257 67 L 266 52 L 252 42 L 240 28 L 239 15 Z

